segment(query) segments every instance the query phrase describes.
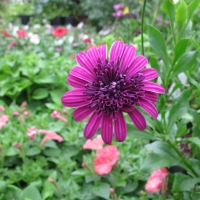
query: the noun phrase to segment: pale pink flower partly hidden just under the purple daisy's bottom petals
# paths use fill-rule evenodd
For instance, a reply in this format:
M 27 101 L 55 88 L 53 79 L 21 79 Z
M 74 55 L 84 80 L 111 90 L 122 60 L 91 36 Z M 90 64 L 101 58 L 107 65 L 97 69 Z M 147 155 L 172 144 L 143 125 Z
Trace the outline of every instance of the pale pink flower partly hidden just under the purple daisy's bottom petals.
M 102 149 L 104 145 L 104 141 L 101 138 L 101 135 L 98 135 L 97 138 L 91 140 L 87 140 L 83 145 L 83 149 L 91 149 L 91 150 L 99 150 Z

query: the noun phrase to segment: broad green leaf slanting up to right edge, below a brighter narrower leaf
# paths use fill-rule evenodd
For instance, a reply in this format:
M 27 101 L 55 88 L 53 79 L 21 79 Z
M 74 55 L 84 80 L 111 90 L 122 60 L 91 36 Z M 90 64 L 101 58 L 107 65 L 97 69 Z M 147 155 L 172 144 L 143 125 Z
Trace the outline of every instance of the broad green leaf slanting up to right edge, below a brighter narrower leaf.
M 189 51 L 187 53 L 184 53 L 177 61 L 177 64 L 175 65 L 172 73 L 172 77 L 180 74 L 181 72 L 190 70 L 190 68 L 196 61 L 197 54 L 198 51 Z

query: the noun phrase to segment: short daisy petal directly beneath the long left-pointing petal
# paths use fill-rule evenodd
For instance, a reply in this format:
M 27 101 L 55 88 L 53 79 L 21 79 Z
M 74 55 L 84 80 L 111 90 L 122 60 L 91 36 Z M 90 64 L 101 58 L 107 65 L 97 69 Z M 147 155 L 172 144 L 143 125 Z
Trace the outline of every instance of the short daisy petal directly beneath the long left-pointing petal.
M 93 110 L 89 109 L 88 105 L 77 108 L 73 113 L 74 119 L 77 122 L 82 121 L 82 120 L 86 119 L 92 112 L 93 112 Z

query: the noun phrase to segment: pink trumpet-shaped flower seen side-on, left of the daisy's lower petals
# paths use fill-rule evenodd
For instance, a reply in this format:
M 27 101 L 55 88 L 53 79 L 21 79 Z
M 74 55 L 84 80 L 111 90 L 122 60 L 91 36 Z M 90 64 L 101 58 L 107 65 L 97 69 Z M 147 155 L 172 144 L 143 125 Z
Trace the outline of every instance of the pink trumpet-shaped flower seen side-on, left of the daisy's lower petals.
M 48 141 L 48 140 L 57 140 L 58 142 L 62 142 L 63 138 L 58 135 L 57 133 L 50 131 L 50 130 L 39 130 L 40 134 L 45 134 L 45 137 L 43 138 L 42 142 L 40 143 L 40 147 L 44 146 L 44 144 Z

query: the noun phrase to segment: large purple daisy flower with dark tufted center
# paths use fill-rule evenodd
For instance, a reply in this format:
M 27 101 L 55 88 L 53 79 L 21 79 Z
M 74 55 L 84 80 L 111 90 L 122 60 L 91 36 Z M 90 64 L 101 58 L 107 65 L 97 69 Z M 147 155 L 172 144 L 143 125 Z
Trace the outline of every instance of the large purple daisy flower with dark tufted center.
M 126 112 L 139 130 L 146 128 L 146 120 L 137 106 L 153 118 L 158 111 L 152 102 L 157 101 L 157 93 L 163 94 L 162 86 L 149 82 L 158 73 L 153 68 L 143 69 L 148 60 L 139 55 L 132 45 L 115 41 L 107 58 L 107 46 L 90 48 L 87 53 L 76 56 L 78 66 L 69 72 L 68 83 L 74 87 L 62 96 L 62 104 L 76 108 L 76 121 L 90 116 L 84 136 L 91 139 L 100 128 L 105 143 L 113 137 L 122 142 L 126 138 Z

